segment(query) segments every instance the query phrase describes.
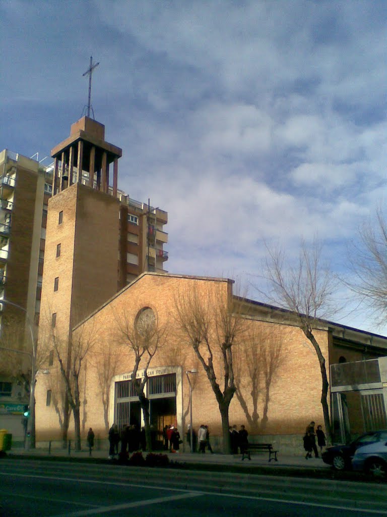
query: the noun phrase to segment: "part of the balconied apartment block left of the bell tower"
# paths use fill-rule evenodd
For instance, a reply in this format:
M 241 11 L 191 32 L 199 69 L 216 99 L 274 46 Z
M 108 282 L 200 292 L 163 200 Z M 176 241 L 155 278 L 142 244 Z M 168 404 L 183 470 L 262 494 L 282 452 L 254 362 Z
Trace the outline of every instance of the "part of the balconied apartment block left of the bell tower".
M 0 351 L 0 422 L 10 432 L 20 431 L 28 403 L 31 364 L 21 352 L 31 352 L 37 334 L 51 189 L 52 168 L 0 153 L 0 346 L 10 349 Z

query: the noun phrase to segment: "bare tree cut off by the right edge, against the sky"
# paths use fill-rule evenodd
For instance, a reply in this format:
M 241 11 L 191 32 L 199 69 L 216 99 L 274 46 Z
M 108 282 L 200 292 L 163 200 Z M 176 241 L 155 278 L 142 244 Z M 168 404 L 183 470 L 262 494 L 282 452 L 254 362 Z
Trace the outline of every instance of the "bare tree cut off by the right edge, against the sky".
M 375 224 L 364 224 L 359 231 L 360 243 L 348 253 L 353 280 L 346 285 L 376 314 L 378 324 L 387 317 L 387 221 L 377 209 Z

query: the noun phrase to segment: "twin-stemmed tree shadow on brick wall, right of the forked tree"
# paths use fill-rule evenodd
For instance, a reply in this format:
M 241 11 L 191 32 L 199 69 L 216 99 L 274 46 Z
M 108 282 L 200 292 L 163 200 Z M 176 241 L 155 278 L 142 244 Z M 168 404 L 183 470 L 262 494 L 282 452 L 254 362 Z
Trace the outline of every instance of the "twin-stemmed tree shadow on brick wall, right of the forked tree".
M 236 398 L 244 410 L 252 432 L 265 430 L 270 401 L 270 386 L 284 358 L 284 339 L 278 326 L 257 324 L 246 332 L 235 355 Z M 260 420 L 259 404 L 263 399 Z M 251 410 L 250 410 L 251 407 Z

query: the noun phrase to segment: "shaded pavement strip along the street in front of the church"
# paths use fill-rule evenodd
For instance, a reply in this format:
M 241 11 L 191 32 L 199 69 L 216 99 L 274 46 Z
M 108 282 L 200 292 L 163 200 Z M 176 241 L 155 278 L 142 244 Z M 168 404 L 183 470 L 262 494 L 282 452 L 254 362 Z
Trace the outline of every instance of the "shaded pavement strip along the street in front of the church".
M 304 456 L 290 456 L 290 455 L 282 455 L 278 453 L 278 461 L 272 460 L 268 461 L 268 453 L 259 452 L 251 454 L 251 461 L 245 459 L 242 461 L 242 457 L 240 454 L 232 455 L 232 454 L 211 454 L 211 453 L 170 453 L 166 451 L 155 451 L 156 453 L 167 454 L 170 461 L 179 462 L 179 463 L 187 463 L 187 464 L 197 464 L 202 468 L 204 465 L 232 465 L 237 466 L 239 468 L 247 468 L 253 466 L 265 466 L 270 468 L 286 468 L 293 467 L 298 469 L 330 469 L 330 465 L 324 463 L 321 458 L 312 458 L 310 460 L 305 460 Z M 145 456 L 147 452 L 143 452 Z M 91 456 L 89 455 L 89 451 L 84 449 L 82 451 L 71 450 L 70 454 L 67 449 L 51 449 L 51 453 L 47 448 L 37 448 L 25 450 L 23 448 L 12 448 L 7 452 L 7 457 L 28 457 L 28 458 L 67 458 L 72 460 L 79 461 L 92 461 L 92 460 L 105 460 L 107 463 L 111 463 L 114 460 L 108 459 L 108 451 L 107 450 L 93 450 L 91 452 Z

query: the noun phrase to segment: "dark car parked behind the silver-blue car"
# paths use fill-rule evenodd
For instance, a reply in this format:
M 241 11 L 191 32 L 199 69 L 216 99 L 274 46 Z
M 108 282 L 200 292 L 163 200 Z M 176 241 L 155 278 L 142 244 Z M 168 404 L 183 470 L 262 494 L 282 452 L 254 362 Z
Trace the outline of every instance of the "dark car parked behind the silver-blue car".
M 352 458 L 359 448 L 383 442 L 387 430 L 369 431 L 364 433 L 348 445 L 334 445 L 328 447 L 321 455 L 322 460 L 332 465 L 336 470 L 352 468 Z

